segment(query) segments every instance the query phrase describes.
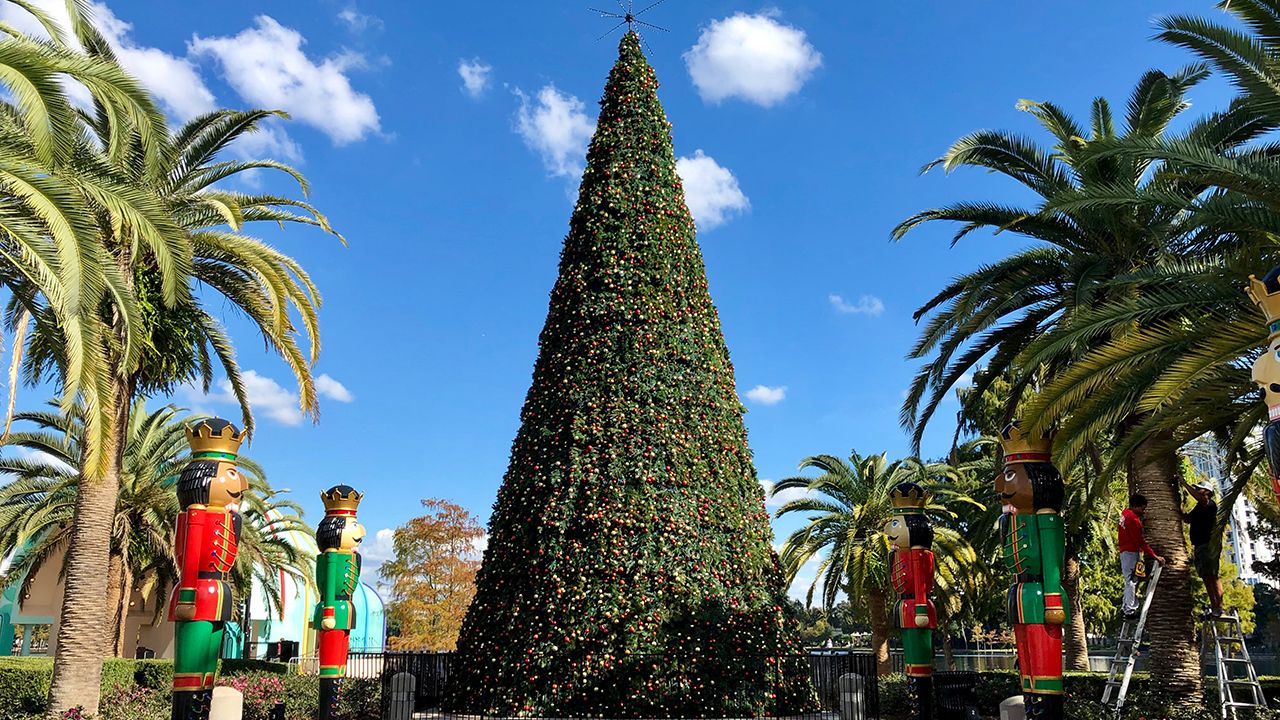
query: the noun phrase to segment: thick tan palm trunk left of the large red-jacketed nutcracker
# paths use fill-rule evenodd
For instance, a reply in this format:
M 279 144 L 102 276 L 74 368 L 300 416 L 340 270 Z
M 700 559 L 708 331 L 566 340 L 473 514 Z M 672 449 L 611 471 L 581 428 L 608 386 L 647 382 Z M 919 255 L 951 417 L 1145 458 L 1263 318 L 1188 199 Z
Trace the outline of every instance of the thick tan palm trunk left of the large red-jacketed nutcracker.
M 104 612 L 102 600 L 108 593 L 111 523 L 120 491 L 120 465 L 128 433 L 129 402 L 133 397 L 131 382 L 115 378 L 114 384 L 113 427 L 109 447 L 102 448 L 108 459 L 102 477 L 83 470 L 86 464 L 82 450 L 76 520 L 67 547 L 67 577 L 58 624 L 54 679 L 49 687 L 50 716 L 58 716 L 72 707 L 82 707 L 87 715 L 97 715 L 101 696 L 102 650 L 111 625 L 109 612 L 114 611 L 110 609 Z

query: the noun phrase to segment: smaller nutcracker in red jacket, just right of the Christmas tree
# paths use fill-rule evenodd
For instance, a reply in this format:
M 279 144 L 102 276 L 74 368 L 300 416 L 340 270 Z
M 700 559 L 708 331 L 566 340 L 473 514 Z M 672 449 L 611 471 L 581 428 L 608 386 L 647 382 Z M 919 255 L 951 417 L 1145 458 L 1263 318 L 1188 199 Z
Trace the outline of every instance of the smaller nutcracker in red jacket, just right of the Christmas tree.
M 892 556 L 897 605 L 893 618 L 902 629 L 902 657 L 911 720 L 933 717 L 933 630 L 938 626 L 929 591 L 933 589 L 933 527 L 924 516 L 927 497 L 915 483 L 900 483 L 890 493 L 893 516 L 884 525 Z

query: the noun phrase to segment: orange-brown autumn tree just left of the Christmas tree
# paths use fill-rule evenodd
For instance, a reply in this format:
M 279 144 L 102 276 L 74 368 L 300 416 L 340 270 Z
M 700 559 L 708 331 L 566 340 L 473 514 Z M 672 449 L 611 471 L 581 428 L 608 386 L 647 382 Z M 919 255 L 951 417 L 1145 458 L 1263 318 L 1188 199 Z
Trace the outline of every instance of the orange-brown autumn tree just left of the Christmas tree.
M 479 543 L 475 516 L 444 500 L 424 500 L 426 515 L 396 530 L 396 556 L 379 573 L 392 587 L 388 625 L 399 635 L 390 650 L 454 650 L 462 618 L 475 597 Z

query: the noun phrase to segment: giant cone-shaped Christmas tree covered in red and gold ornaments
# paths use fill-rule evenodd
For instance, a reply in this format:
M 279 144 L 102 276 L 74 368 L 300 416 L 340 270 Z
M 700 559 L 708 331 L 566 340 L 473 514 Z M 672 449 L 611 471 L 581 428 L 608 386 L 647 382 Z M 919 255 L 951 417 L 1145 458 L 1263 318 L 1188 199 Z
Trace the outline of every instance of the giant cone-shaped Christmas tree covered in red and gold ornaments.
M 628 32 L 458 641 L 457 711 L 751 716 L 812 694 L 657 88 Z

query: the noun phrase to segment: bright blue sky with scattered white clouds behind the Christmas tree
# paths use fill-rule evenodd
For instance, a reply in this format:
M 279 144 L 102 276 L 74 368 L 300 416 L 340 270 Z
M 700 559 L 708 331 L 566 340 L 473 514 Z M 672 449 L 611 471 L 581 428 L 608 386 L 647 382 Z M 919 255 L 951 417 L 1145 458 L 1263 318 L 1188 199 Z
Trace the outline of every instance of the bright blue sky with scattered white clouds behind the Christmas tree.
M 241 151 L 298 164 L 349 241 L 265 236 L 325 295 L 317 425 L 291 410 L 287 368 L 227 318 L 253 372 L 260 432 L 248 452 L 314 520 L 316 493 L 339 482 L 367 493 L 371 534 L 425 497 L 488 519 L 616 58 L 618 33 L 596 41 L 612 23 L 588 4 L 95 5 L 175 120 L 218 105 L 289 110 L 293 120 Z M 1021 243 L 973 236 L 948 249 L 945 227 L 891 243 L 888 231 L 947 201 L 1025 200 L 1000 178 L 920 177 L 920 165 L 974 129 L 1033 132 L 1019 99 L 1084 115 L 1106 95 L 1123 108 L 1140 72 L 1190 60 L 1151 40 L 1170 13 L 1217 14 L 1208 0 L 668 0 L 645 15 L 669 28 L 645 33 L 648 55 L 696 195 L 760 478 L 818 452 L 908 451 L 897 413 L 911 311 Z M 1226 96 L 1213 81 L 1193 100 L 1207 110 Z M 27 389 L 20 404 L 42 400 Z M 175 400 L 234 413 L 218 388 Z M 947 447 L 947 415 L 927 454 Z M 383 552 L 371 538 L 371 560 Z

